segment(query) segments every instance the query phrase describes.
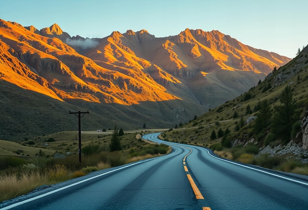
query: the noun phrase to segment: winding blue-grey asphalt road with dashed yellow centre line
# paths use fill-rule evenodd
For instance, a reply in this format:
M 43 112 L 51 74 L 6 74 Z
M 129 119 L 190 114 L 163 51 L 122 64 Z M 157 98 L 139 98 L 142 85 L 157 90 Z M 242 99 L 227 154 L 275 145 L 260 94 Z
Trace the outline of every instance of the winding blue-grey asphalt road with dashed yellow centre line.
M 307 210 L 308 182 L 164 142 L 169 155 L 103 170 L 4 209 Z

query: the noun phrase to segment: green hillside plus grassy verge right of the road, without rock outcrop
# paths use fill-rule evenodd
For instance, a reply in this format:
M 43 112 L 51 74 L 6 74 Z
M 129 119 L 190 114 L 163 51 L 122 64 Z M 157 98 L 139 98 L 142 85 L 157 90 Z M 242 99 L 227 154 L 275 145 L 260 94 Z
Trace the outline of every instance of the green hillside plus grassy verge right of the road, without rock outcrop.
M 303 65 L 299 65 L 299 63 Z M 199 145 L 218 156 L 265 168 L 308 175 L 306 154 L 259 154 L 265 147 L 300 144 L 308 110 L 308 53 L 273 70 L 246 93 L 163 134 L 168 141 Z M 296 66 L 296 67 L 295 67 Z M 287 78 L 274 85 L 277 80 Z M 307 162 L 307 161 L 306 161 Z

